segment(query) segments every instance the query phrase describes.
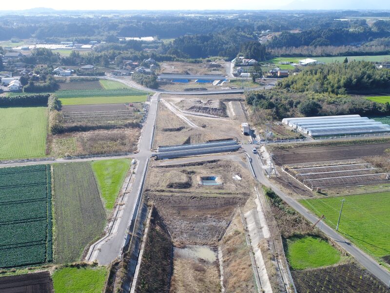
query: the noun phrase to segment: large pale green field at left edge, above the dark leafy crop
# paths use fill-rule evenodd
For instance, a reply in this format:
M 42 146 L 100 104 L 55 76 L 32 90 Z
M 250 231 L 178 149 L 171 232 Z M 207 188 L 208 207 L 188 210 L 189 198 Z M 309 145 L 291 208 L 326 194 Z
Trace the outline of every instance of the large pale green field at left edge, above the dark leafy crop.
M 0 108 L 0 160 L 45 156 L 46 107 Z

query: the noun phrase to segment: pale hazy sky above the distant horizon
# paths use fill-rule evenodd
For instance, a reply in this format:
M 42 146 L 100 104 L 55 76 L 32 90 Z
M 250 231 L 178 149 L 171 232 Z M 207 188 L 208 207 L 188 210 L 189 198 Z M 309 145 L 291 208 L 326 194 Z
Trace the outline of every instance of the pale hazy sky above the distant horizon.
M 19 0 L 17 3 L 18 5 L 9 6 L 10 9 L 23 10 L 35 7 L 58 10 L 390 9 L 389 0 Z

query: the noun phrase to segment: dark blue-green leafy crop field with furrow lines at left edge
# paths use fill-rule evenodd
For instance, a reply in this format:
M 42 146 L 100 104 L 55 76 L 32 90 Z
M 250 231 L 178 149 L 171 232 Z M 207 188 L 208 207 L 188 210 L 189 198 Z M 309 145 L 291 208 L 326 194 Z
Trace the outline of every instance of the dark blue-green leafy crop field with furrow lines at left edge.
M 50 166 L 0 168 L 0 268 L 52 258 Z

